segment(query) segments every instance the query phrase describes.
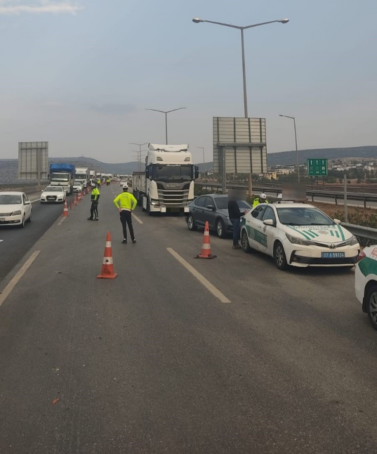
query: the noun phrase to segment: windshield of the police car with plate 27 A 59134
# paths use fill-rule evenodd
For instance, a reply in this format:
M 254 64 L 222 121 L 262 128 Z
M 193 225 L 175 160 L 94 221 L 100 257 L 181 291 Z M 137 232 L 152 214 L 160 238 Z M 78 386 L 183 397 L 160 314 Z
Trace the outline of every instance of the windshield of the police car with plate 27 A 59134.
M 314 207 L 277 208 L 278 217 L 284 225 L 334 225 L 335 222 Z

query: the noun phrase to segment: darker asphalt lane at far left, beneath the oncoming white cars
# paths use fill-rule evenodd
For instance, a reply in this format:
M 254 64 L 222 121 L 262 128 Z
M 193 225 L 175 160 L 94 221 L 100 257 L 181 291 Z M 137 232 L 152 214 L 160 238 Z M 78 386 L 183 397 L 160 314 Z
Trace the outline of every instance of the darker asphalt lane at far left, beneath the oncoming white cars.
M 31 200 L 37 197 L 31 195 Z M 63 205 L 32 205 L 32 222 L 26 222 L 24 229 L 15 226 L 0 226 L 0 285 L 5 276 L 29 251 L 35 242 L 62 214 Z

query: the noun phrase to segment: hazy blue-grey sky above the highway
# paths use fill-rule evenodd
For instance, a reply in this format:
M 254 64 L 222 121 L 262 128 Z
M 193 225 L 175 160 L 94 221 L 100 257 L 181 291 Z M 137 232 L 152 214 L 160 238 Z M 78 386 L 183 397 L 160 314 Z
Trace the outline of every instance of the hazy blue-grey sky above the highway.
M 267 151 L 376 145 L 376 0 L 0 0 L 0 158 L 132 159 L 128 142 L 189 143 L 212 160 L 212 117 L 265 117 Z

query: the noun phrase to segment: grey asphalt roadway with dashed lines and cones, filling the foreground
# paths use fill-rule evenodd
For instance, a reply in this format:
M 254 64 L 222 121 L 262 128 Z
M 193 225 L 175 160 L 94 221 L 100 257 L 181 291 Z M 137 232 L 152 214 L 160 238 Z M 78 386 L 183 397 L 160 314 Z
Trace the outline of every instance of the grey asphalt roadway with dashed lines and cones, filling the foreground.
M 202 232 L 139 208 L 123 245 L 117 192 L 99 222 L 86 197 L 53 223 L 0 307 L 0 452 L 377 452 L 354 273 L 281 272 L 214 236 L 197 260 Z M 96 279 L 107 231 L 114 280 Z

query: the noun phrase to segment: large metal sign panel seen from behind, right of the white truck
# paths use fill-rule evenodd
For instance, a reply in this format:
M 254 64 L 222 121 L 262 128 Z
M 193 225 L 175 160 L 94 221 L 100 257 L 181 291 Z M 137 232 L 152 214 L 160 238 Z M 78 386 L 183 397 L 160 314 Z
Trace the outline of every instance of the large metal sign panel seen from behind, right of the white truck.
M 222 175 L 223 193 L 227 173 L 266 170 L 265 118 L 213 117 L 213 172 Z

